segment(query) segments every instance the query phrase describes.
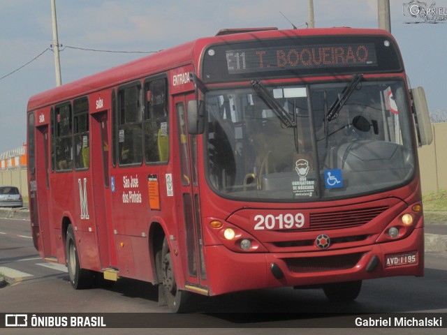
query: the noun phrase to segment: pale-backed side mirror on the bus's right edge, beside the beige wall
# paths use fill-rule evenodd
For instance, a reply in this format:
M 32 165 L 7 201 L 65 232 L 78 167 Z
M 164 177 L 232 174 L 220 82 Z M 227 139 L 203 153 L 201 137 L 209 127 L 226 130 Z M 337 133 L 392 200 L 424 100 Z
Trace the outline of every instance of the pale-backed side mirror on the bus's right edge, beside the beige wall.
M 432 123 L 430 122 L 430 113 L 428 112 L 427 99 L 423 87 L 411 89 L 413 98 L 414 113 L 416 114 L 416 129 L 418 130 L 420 145 L 432 143 Z

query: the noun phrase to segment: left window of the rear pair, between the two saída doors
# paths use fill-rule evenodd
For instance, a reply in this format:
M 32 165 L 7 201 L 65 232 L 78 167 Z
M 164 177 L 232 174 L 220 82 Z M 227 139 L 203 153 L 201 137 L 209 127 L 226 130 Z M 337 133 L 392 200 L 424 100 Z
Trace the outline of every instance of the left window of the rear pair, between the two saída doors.
M 56 107 L 55 126 L 55 160 L 57 171 L 68 171 L 73 168 L 73 121 L 71 104 Z

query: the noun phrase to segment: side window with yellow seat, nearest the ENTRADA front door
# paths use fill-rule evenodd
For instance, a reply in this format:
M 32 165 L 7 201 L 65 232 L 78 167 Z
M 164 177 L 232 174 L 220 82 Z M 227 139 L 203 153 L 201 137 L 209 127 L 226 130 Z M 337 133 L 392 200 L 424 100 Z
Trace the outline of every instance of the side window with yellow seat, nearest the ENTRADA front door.
M 169 127 L 166 77 L 146 82 L 145 103 L 146 162 L 167 162 L 169 158 Z

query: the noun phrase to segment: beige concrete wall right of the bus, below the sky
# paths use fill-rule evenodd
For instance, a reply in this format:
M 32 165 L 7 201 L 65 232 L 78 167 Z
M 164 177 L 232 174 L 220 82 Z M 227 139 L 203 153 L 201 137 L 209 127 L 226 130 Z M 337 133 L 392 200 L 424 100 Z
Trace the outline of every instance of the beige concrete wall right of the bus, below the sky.
M 432 144 L 418 149 L 423 194 L 447 190 L 447 122 L 432 129 Z

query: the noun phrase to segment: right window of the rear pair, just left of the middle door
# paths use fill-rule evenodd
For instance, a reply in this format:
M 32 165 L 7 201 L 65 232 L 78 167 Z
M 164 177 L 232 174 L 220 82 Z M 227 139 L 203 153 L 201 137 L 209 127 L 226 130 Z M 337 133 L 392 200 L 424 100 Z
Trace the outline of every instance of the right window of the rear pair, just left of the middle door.
M 89 168 L 89 100 L 76 99 L 73 103 L 75 114 L 75 169 Z

